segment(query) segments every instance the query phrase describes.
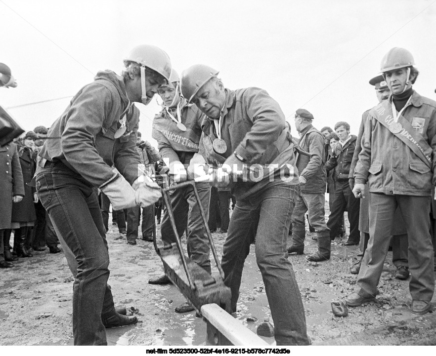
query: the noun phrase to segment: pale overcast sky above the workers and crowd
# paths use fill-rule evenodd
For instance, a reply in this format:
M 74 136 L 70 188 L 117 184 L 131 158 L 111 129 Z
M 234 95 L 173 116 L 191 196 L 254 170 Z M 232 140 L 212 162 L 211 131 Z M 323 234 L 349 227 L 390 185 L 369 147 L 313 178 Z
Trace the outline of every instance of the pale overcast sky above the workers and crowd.
M 377 104 L 368 80 L 394 46 L 415 58 L 415 90 L 436 99 L 435 2 L 0 0 L 0 62 L 18 81 L 0 88 L 0 104 L 26 130 L 50 126 L 98 70 L 121 73 L 130 49 L 150 43 L 179 73 L 204 63 L 228 88 L 266 89 L 294 133 L 298 108 L 314 115 L 318 129 L 344 120 L 356 133 L 361 114 Z M 138 107 L 139 129 L 151 138 L 160 107 Z

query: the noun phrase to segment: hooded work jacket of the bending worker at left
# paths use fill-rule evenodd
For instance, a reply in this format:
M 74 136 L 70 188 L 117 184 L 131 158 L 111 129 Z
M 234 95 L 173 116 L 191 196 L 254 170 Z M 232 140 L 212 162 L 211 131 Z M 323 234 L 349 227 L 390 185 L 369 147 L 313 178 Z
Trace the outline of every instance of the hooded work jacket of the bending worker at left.
M 98 72 L 51 125 L 39 156 L 61 161 L 94 187 L 113 176 L 112 165 L 132 184 L 140 163 L 135 149 L 139 110 L 134 105 L 126 113 L 126 134 L 114 137 L 128 104 L 123 78 L 112 71 Z

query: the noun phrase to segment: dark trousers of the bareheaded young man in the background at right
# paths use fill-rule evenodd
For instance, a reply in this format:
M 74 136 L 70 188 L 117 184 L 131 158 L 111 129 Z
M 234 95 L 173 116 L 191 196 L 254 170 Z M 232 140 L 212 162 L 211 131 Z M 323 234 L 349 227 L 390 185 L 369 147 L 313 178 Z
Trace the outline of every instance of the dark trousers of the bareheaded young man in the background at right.
M 349 237 L 350 241 L 359 242 L 359 211 L 360 201 L 354 197 L 348 184 L 348 180 L 335 182 L 335 196 L 332 211 L 330 212 L 327 226 L 330 229 L 330 237 L 334 239 L 341 234 L 341 222 L 344 211 L 348 206 Z M 344 227 L 345 228 L 345 227 Z

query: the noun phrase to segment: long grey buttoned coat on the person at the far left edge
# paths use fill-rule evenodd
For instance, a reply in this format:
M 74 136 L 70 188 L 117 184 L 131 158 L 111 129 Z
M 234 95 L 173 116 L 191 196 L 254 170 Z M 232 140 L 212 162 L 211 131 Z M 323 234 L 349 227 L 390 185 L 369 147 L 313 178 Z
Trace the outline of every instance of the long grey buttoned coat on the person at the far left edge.
M 10 229 L 13 196 L 24 196 L 23 174 L 17 146 L 0 146 L 0 230 Z

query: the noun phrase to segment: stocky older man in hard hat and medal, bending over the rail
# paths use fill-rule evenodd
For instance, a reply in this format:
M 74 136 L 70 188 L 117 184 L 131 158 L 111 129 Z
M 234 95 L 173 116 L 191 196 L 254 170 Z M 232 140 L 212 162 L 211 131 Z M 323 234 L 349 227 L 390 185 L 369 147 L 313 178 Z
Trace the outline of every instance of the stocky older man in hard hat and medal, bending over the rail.
M 181 89 L 207 116 L 190 176 L 195 176 L 196 167 L 201 174 L 206 163 L 224 163 L 229 176 L 221 180 L 213 169 L 213 185 L 232 187 L 236 197 L 221 262 L 224 283 L 231 289 L 231 310 L 236 312 L 244 261 L 255 242 L 277 345 L 307 345 L 300 290 L 286 258 L 294 187 L 299 182 L 292 137 L 280 106 L 265 90 L 230 90 L 217 75 L 209 66 L 191 66 L 182 73 Z

